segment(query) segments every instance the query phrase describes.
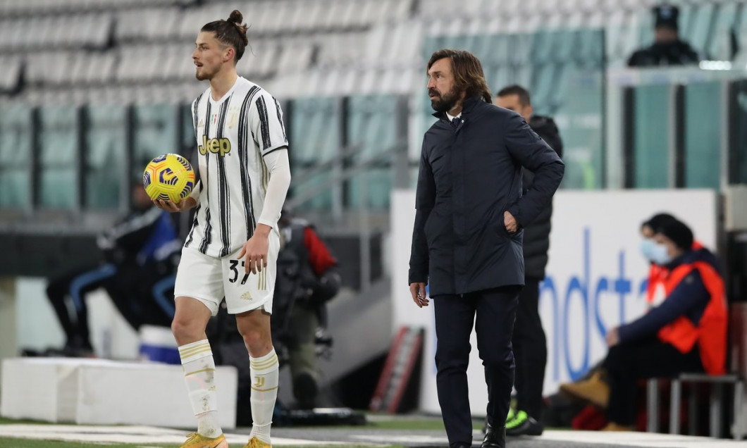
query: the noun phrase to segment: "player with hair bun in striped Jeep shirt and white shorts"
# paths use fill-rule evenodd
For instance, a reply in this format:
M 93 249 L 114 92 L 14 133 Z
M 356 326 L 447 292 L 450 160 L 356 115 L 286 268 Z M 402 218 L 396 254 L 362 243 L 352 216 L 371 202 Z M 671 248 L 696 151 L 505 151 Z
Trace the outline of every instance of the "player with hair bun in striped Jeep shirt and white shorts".
M 226 448 L 217 419 L 215 363 L 205 335 L 225 296 L 249 350 L 252 433 L 245 448 L 270 447 L 278 358 L 270 313 L 280 240 L 277 221 L 291 183 L 282 111 L 270 93 L 236 73 L 247 26 L 234 10 L 202 27 L 192 59 L 210 87 L 192 105 L 199 184 L 187 199 L 158 200 L 168 211 L 196 207 L 182 249 L 172 331 L 179 344 L 197 432 L 184 448 Z

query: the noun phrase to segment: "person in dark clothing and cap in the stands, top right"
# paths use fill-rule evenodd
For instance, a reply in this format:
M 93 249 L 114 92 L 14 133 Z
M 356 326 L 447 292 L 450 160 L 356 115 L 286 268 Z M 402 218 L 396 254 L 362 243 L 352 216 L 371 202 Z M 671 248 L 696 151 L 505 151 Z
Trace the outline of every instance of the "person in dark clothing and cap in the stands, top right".
M 630 67 L 678 66 L 700 62 L 701 57 L 689 43 L 680 40 L 676 6 L 654 7 L 654 43 L 639 49 L 627 60 Z

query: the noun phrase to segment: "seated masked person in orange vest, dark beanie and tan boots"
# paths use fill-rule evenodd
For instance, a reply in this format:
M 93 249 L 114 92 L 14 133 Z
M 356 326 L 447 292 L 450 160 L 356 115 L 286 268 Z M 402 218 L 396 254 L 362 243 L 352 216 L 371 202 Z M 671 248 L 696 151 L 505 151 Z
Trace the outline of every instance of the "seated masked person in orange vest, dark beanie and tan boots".
M 675 219 L 657 228 L 648 254 L 665 270 L 666 299 L 607 332 L 610 351 L 602 362 L 603 374 L 589 380 L 594 388 L 561 386 L 565 393 L 606 408 L 607 431 L 633 429 L 639 379 L 725 372 L 728 316 L 715 255 L 703 247 L 693 249 L 692 231 Z

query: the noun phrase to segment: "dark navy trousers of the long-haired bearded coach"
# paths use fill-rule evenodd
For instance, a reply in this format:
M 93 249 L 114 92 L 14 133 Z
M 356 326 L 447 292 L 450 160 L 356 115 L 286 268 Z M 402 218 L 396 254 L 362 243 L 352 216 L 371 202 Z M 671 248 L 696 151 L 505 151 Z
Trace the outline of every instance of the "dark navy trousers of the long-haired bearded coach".
M 514 380 L 511 335 L 521 286 L 433 297 L 436 314 L 436 385 L 449 446 L 472 444 L 467 365 L 472 327 L 488 386 L 488 421 L 503 426 Z

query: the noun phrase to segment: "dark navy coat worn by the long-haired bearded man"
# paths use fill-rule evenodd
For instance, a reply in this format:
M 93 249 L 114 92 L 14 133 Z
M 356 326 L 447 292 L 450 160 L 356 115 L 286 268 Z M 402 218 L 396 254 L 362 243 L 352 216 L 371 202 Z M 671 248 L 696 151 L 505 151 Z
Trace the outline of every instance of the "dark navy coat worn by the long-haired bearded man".
M 430 296 L 524 284 L 522 225 L 551 204 L 565 166 L 518 113 L 465 99 L 462 122 L 445 113 L 426 132 L 415 198 L 409 283 Z M 534 172 L 522 196 L 521 172 Z M 508 210 L 520 230 L 503 225 Z

